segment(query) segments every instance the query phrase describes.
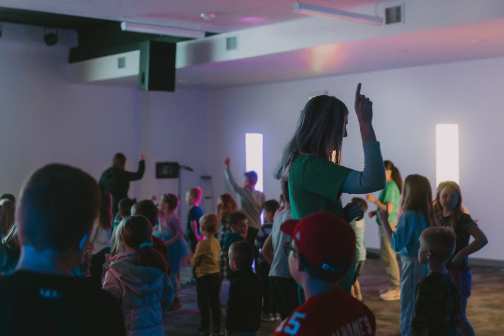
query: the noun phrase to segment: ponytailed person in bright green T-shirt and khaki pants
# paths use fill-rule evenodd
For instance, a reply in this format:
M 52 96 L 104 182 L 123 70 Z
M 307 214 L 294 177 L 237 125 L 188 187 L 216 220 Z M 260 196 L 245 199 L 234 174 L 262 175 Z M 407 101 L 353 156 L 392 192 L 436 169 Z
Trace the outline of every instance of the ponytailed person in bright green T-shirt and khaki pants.
M 397 211 L 399 210 L 399 201 L 401 199 L 401 191 L 403 189 L 403 180 L 401 173 L 394 163 L 389 160 L 384 161 L 385 177 L 387 184 L 385 189 L 380 192 L 378 199 L 373 195 L 367 194 L 366 198 L 369 202 L 376 204 L 376 211 L 369 212 L 369 217 L 376 215 L 377 211 L 387 210 L 389 212 L 389 223 L 393 231 L 397 227 Z M 390 288 L 381 290 L 380 298 L 385 301 L 395 301 L 401 298 L 400 282 L 401 276 L 399 273 L 399 264 L 397 263 L 396 252 L 390 247 L 390 242 L 387 239 L 385 231 L 379 216 L 376 216 L 376 223 L 380 226 L 380 257 L 383 266 L 390 279 Z

